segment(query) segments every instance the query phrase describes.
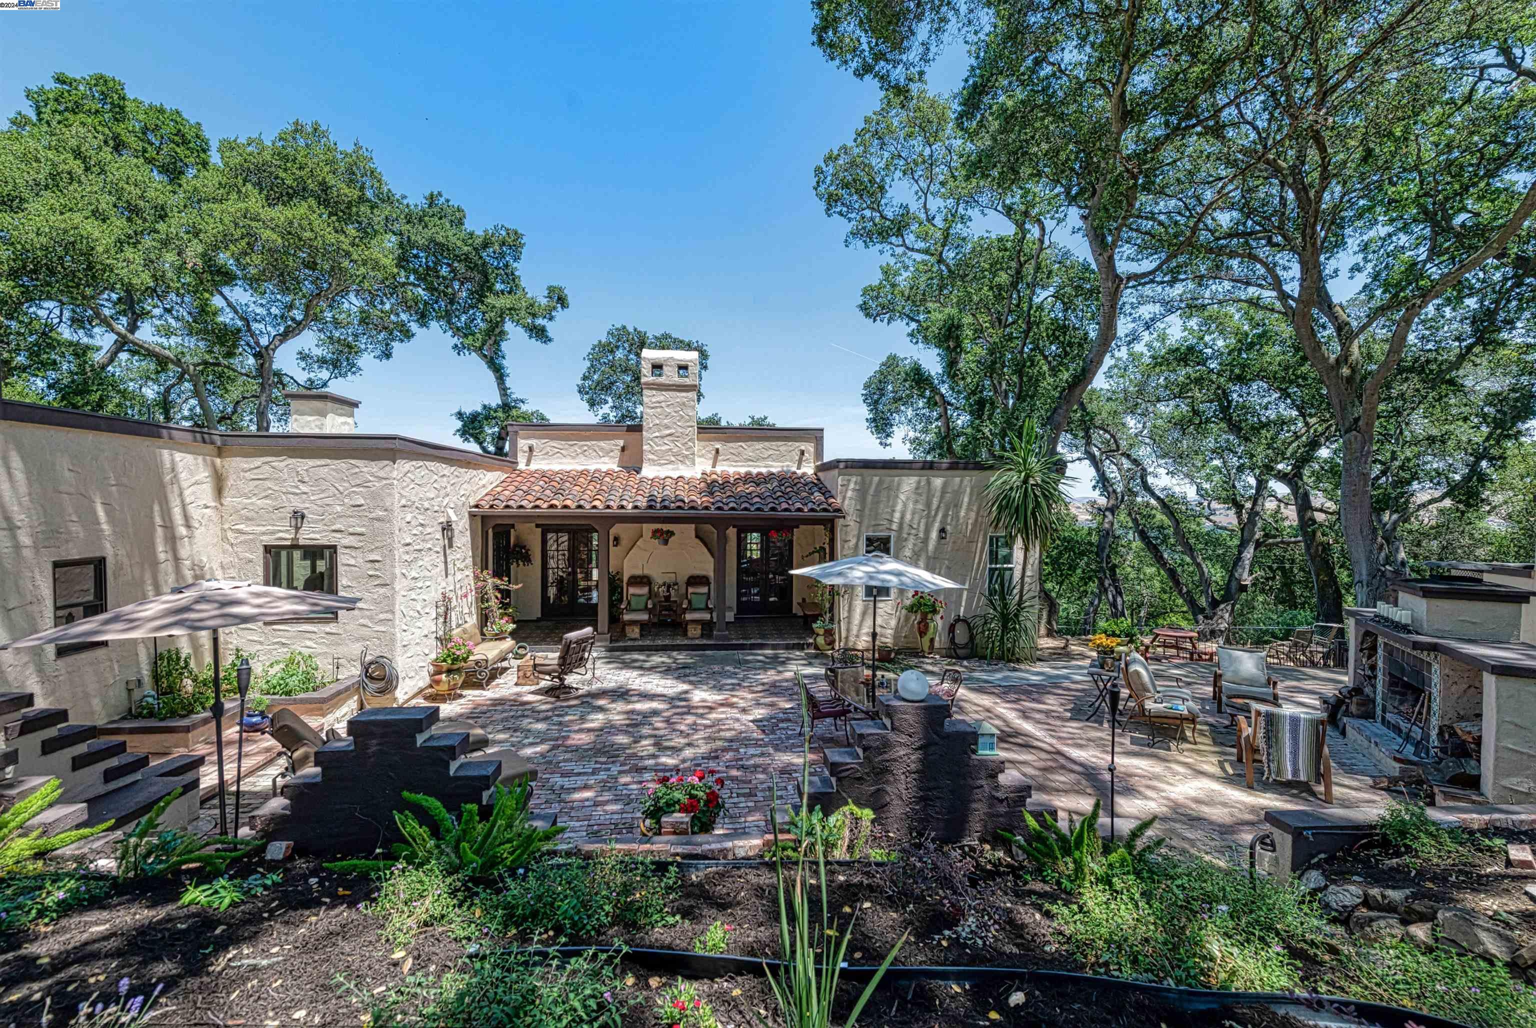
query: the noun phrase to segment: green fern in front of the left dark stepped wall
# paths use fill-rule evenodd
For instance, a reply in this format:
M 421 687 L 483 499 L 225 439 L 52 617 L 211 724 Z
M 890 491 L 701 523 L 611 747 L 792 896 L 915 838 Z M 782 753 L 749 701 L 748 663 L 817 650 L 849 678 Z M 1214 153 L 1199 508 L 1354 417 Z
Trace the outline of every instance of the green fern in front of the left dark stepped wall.
M 528 824 L 528 784 L 511 788 L 496 787 L 490 819 L 481 822 L 479 805 L 464 804 L 458 817 L 433 799 L 419 793 L 401 793 L 432 817 L 436 837 L 410 811 L 395 811 L 395 824 L 406 842 L 395 844 L 395 854 L 409 864 L 436 864 L 455 874 L 490 877 L 521 868 L 541 851 L 554 845 L 565 825 L 536 828 Z

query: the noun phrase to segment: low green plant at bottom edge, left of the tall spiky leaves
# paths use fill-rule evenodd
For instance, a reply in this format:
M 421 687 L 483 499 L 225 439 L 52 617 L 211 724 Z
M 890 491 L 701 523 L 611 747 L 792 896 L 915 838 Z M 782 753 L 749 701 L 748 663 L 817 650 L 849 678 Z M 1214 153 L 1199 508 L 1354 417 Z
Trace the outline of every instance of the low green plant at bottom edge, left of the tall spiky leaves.
M 628 1005 L 616 953 L 558 959 L 508 950 L 461 962 L 441 979 L 413 974 L 381 997 L 343 987 L 375 1003 L 370 1023 L 378 1028 L 619 1028 Z

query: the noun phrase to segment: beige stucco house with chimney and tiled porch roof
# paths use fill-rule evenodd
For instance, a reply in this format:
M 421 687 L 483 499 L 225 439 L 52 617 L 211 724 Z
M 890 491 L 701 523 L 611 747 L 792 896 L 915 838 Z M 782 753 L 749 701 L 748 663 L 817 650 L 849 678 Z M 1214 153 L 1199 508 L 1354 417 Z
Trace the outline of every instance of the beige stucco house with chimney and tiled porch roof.
M 700 426 L 697 353 L 641 364 L 642 424 L 510 426 L 507 458 L 356 432 L 358 404 L 333 393 L 289 393 L 292 430 L 270 433 L 0 403 L 0 638 L 198 578 L 318 589 L 362 604 L 230 630 L 227 645 L 257 661 L 306 650 L 341 675 L 367 647 L 395 661 L 404 698 L 427 682 L 441 598 L 475 569 L 521 585 L 521 625 L 591 624 L 614 647 L 610 575 L 648 579 L 648 624 L 707 581 L 703 644 L 746 645 L 803 612 L 813 584 L 790 572 L 823 559 L 880 550 L 969 582 L 945 596 L 951 618 L 1023 573 L 988 527 L 982 464 L 826 459 L 822 429 Z M 842 638 L 868 639 L 868 593 L 843 590 Z M 879 607 L 882 639 L 915 645 L 915 619 Z M 158 644 L 207 656 L 201 639 Z M 104 721 L 147 681 L 154 645 L 0 652 L 0 691 Z

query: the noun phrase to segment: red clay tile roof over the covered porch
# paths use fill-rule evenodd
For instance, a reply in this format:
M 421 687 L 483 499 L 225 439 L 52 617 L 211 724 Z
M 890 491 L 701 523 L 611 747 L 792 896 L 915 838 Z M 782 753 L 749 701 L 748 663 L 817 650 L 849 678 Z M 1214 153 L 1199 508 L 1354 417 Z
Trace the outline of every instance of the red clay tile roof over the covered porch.
M 634 469 L 519 469 L 476 510 L 676 510 L 840 515 L 837 496 L 803 472 L 642 476 Z

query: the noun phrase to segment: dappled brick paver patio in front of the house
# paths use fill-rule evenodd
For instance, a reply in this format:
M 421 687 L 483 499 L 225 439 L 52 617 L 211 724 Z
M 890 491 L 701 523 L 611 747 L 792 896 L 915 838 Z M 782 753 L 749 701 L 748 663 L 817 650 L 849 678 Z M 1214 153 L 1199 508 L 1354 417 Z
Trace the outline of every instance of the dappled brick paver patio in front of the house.
M 559 807 L 570 825 L 565 841 L 601 841 L 633 834 L 644 787 L 651 776 L 684 768 L 716 768 L 727 830 L 766 830 L 773 771 L 780 798 L 794 794 L 799 774 L 799 702 L 794 670 L 820 681 L 825 658 L 816 653 L 604 653 L 599 681 L 568 699 L 518 688 L 510 679 L 485 691 L 467 691 L 444 704 L 444 719 L 482 725 L 496 745 L 516 748 L 539 770 L 533 805 Z M 932 675 L 938 661 L 925 662 Z M 968 662 L 955 715 L 986 719 L 998 728 L 1003 759 L 1035 785 L 1038 804 L 1086 811 L 1106 798 L 1109 735 L 1104 713 L 1086 719 L 1094 690 L 1081 658 L 1046 659 L 1031 667 Z M 1117 816 L 1140 821 L 1158 814 L 1158 834 L 1175 845 L 1232 857 L 1263 828 L 1263 811 L 1321 805 L 1304 785 L 1243 784 L 1233 759 L 1235 733 L 1210 702 L 1209 664 L 1155 664 L 1163 676 L 1184 676 L 1201 701 L 1195 744 L 1184 753 L 1166 744 L 1147 747 L 1143 728 L 1117 741 Z M 1316 699 L 1342 682 L 1342 672 L 1272 668 L 1287 705 L 1316 710 Z M 822 722 L 817 742 L 836 742 Z M 1370 788 L 1367 756 L 1330 733 L 1338 805 L 1381 804 Z M 819 762 L 813 744 L 813 762 Z M 1032 804 L 1035 805 L 1035 804 Z

